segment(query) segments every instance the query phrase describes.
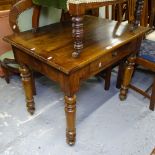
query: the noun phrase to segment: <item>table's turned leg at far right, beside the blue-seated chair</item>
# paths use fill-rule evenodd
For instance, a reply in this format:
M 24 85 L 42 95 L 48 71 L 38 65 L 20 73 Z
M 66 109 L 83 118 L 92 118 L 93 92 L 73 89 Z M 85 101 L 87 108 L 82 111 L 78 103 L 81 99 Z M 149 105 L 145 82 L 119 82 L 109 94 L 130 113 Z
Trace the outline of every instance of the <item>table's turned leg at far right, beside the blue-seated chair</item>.
M 135 57 L 128 58 L 128 63 L 124 71 L 123 83 L 120 90 L 120 100 L 125 100 L 127 97 L 128 87 L 134 71 Z

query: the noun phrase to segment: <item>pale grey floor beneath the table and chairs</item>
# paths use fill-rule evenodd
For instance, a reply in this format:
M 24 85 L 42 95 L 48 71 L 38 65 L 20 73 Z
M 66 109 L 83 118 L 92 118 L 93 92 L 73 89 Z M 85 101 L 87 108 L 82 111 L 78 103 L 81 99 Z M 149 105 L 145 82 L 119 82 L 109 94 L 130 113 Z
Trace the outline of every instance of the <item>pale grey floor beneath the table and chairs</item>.
M 152 76 L 137 72 L 133 82 L 147 88 Z M 36 78 L 36 113 L 25 108 L 19 77 L 8 85 L 0 79 L 1 155 L 150 155 L 155 147 L 155 112 L 149 101 L 129 91 L 126 101 L 118 98 L 116 75 L 110 91 L 104 82 L 91 78 L 77 94 L 77 142 L 65 142 L 63 94 L 57 84 Z

